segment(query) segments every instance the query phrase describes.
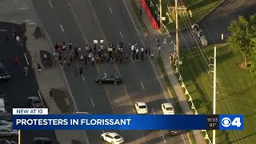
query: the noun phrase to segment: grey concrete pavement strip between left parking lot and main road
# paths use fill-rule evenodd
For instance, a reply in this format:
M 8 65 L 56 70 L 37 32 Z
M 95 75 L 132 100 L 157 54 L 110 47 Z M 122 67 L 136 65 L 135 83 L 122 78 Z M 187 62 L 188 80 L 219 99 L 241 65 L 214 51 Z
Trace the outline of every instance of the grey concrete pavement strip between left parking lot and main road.
M 46 105 L 49 107 L 50 114 L 61 114 L 61 111 L 58 109 L 54 99 L 50 97 L 50 89 L 56 88 L 68 91 L 67 84 L 58 63 L 47 69 L 43 67 L 39 55 L 40 50 L 46 50 L 52 54 L 53 49 L 47 39 L 34 38 L 34 29 L 35 26 L 26 26 L 26 47 L 32 59 L 32 63 L 30 65 L 32 65 L 32 68 L 34 69 L 41 96 L 46 102 Z M 37 63 L 42 66 L 42 72 L 40 74 L 38 73 Z M 55 130 L 55 134 L 60 144 L 71 144 L 72 139 L 84 144 L 86 139 L 82 130 L 73 130 L 72 132 L 68 130 Z

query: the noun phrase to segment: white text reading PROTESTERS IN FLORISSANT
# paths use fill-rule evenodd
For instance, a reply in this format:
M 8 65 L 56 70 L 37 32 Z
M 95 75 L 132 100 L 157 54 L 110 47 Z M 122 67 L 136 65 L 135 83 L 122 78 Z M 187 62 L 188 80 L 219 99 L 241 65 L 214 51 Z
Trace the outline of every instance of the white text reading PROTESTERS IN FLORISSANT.
M 52 125 L 52 126 L 67 126 L 67 125 L 106 125 L 106 126 L 129 126 L 131 119 L 16 119 L 16 125 L 31 126 L 31 125 Z

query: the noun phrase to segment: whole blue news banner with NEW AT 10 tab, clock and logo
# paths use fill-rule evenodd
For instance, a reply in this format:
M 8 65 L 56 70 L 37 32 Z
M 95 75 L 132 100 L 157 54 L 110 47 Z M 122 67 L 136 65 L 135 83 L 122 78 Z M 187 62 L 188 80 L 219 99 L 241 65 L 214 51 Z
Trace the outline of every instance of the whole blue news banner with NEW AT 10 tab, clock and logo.
M 15 130 L 243 130 L 241 114 L 48 114 L 13 109 Z

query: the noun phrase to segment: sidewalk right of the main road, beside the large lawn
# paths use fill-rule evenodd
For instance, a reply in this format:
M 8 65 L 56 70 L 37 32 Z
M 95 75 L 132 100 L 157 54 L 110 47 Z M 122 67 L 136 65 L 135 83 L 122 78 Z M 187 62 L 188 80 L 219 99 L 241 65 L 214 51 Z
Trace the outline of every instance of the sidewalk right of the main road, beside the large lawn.
M 140 0 L 135 0 L 138 9 L 139 6 L 141 6 Z M 175 76 L 175 71 L 172 66 L 170 66 L 169 62 L 169 55 L 172 50 L 174 50 L 174 45 L 171 44 L 171 39 L 174 40 L 174 38 L 166 38 L 165 34 L 160 34 L 159 30 L 154 30 L 154 27 L 151 25 L 149 18 L 147 18 L 146 14 L 142 11 L 142 20 L 145 22 L 148 30 L 149 30 L 149 39 L 148 39 L 148 45 L 151 48 L 154 48 L 155 54 L 158 54 L 158 50 L 155 44 L 155 38 L 158 36 L 161 44 L 161 56 L 162 56 L 162 62 L 164 63 L 166 74 L 168 74 L 168 78 L 170 80 L 170 84 L 174 87 L 174 92 L 178 97 L 178 102 L 180 106 L 182 107 L 182 111 L 184 114 L 194 114 L 192 110 L 190 109 L 190 106 L 187 102 L 186 96 L 182 90 L 181 84 L 178 82 L 178 79 Z M 162 44 L 164 39 L 166 38 L 167 44 Z M 157 56 L 157 55 L 156 55 Z M 194 134 L 194 138 L 196 143 L 198 144 L 205 144 L 206 141 L 203 138 L 203 135 L 201 133 L 201 130 L 192 130 L 192 133 Z

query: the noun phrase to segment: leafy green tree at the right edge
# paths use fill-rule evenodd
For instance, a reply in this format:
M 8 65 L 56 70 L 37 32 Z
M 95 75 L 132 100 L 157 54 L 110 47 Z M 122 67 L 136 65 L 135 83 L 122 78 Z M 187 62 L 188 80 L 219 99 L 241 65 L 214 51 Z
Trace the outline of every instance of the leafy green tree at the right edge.
M 230 37 L 227 38 L 227 42 L 230 44 L 230 50 L 234 54 L 242 54 L 244 66 L 247 66 L 248 58 L 250 58 L 253 49 L 250 41 L 256 36 L 256 14 L 251 15 L 248 19 L 238 16 L 238 21 L 233 20 L 228 30 L 230 31 Z

